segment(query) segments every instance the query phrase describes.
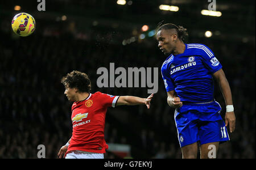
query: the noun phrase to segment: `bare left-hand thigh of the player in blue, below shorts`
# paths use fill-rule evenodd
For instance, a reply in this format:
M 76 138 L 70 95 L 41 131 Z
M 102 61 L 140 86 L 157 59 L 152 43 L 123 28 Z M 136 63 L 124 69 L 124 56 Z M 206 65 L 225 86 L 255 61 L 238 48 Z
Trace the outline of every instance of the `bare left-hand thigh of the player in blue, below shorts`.
M 181 147 L 183 159 L 197 158 L 197 142 Z

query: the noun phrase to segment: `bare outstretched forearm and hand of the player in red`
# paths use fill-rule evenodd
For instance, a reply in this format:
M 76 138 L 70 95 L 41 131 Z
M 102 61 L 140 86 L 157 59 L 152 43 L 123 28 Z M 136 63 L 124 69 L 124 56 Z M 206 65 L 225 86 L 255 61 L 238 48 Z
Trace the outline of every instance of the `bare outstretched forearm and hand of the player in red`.
M 117 106 L 118 105 L 139 105 L 139 104 L 145 104 L 147 108 L 150 108 L 150 101 L 154 94 L 151 94 L 147 98 L 141 98 L 136 96 L 120 96 L 117 100 Z

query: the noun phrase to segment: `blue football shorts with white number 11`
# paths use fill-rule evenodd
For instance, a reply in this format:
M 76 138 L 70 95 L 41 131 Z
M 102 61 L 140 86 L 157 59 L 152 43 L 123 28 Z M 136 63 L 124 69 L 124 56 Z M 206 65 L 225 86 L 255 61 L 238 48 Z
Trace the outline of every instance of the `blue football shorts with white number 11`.
M 180 147 L 199 142 L 229 141 L 228 131 L 222 119 L 217 101 L 204 104 L 185 103 L 176 108 L 174 120 Z

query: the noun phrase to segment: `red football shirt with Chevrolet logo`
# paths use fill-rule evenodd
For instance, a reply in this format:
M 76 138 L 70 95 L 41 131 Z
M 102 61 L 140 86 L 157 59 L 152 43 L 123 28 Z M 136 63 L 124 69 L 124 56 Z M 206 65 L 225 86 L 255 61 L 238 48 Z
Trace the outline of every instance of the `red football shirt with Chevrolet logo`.
M 108 149 L 104 139 L 106 111 L 115 107 L 118 97 L 96 92 L 73 103 L 73 133 L 66 154 L 73 150 L 105 153 Z

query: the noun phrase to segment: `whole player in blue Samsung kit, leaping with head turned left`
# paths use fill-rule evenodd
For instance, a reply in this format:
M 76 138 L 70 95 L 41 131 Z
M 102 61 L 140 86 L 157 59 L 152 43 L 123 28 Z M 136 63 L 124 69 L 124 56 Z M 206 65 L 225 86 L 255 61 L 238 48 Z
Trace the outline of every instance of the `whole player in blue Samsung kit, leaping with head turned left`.
M 175 24 L 161 25 L 156 34 L 158 47 L 168 56 L 162 65 L 167 91 L 167 103 L 175 109 L 175 123 L 182 158 L 216 158 L 221 142 L 229 141 L 235 129 L 236 117 L 232 93 L 222 65 L 204 44 L 185 44 L 187 29 Z M 221 107 L 214 100 L 214 79 L 220 86 L 226 103 L 225 122 Z

